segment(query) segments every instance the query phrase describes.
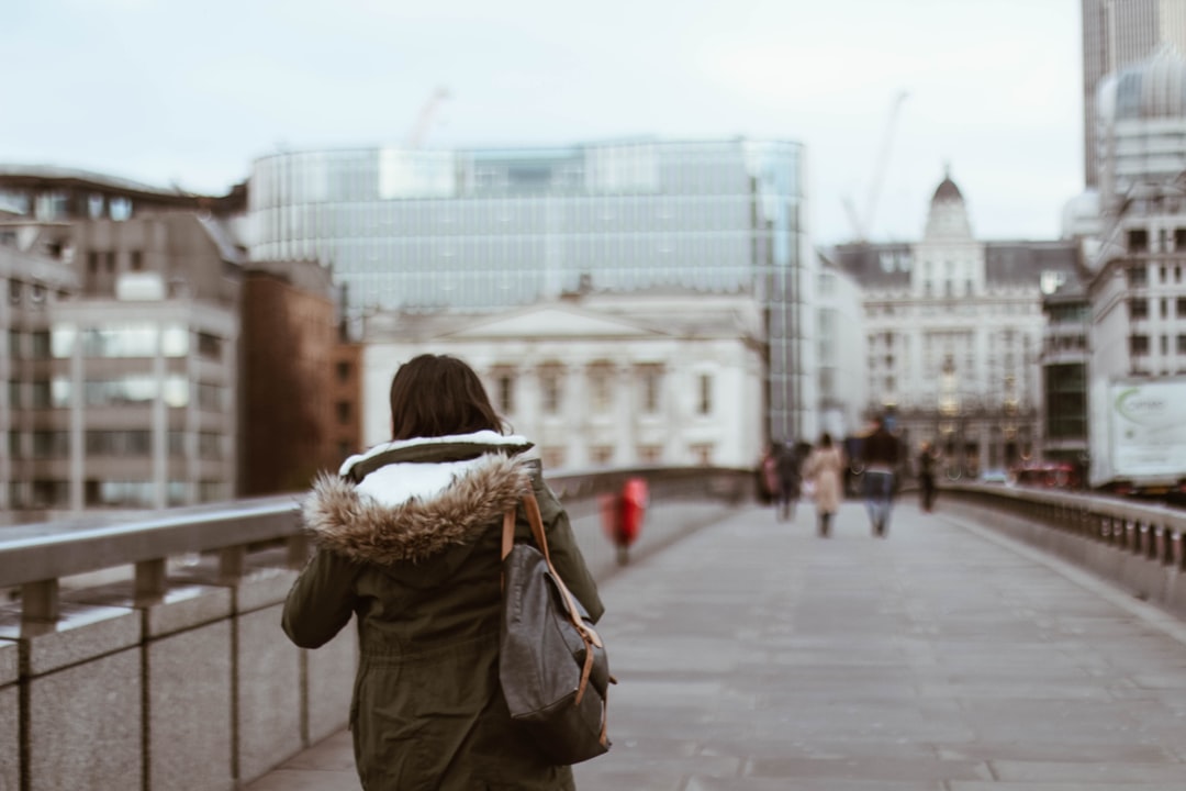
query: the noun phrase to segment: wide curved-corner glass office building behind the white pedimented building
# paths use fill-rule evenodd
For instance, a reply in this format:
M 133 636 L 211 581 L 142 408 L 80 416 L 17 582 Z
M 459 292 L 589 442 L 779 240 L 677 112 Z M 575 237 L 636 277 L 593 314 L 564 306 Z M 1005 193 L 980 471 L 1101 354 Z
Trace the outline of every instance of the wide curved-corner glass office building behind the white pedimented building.
M 279 153 L 254 164 L 250 253 L 332 267 L 353 311 L 751 293 L 767 313 L 771 436 L 803 436 L 802 161 L 797 142 L 746 139 Z

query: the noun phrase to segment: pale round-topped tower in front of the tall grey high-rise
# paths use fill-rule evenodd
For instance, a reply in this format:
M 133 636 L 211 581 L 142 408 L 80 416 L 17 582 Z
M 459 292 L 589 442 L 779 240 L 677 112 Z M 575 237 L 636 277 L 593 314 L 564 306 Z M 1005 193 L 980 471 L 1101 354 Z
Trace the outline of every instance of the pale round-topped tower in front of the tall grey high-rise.
M 1107 77 L 1097 107 L 1097 177 L 1105 209 L 1133 187 L 1168 185 L 1186 171 L 1186 59 L 1173 46 Z

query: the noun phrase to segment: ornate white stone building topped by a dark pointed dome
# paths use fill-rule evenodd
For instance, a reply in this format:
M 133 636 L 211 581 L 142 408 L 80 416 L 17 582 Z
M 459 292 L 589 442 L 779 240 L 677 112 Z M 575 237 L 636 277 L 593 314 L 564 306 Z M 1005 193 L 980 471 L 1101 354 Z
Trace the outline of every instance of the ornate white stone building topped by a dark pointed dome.
M 1073 243 L 977 240 L 948 177 L 920 241 L 834 255 L 863 288 L 868 413 L 933 442 L 952 476 L 1035 452 L 1042 285 L 1077 272 Z

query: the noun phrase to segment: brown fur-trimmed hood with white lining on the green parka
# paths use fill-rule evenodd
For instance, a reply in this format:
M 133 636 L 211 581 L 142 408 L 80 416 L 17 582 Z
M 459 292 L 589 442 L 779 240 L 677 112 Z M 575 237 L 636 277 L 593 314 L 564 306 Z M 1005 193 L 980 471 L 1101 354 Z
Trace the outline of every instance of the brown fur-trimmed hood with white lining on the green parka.
M 417 562 L 470 543 L 531 491 L 522 436 L 477 432 L 380 445 L 323 474 L 305 498 L 319 547 L 351 560 Z

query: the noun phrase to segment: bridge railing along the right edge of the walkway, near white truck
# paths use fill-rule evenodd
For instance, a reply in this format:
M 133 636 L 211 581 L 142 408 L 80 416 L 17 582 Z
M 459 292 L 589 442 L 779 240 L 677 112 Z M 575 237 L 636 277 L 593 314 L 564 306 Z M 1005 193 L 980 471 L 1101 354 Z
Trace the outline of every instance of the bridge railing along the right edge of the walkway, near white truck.
M 1186 618 L 1186 510 L 1134 499 L 994 484 L 948 485 L 940 500 Z

